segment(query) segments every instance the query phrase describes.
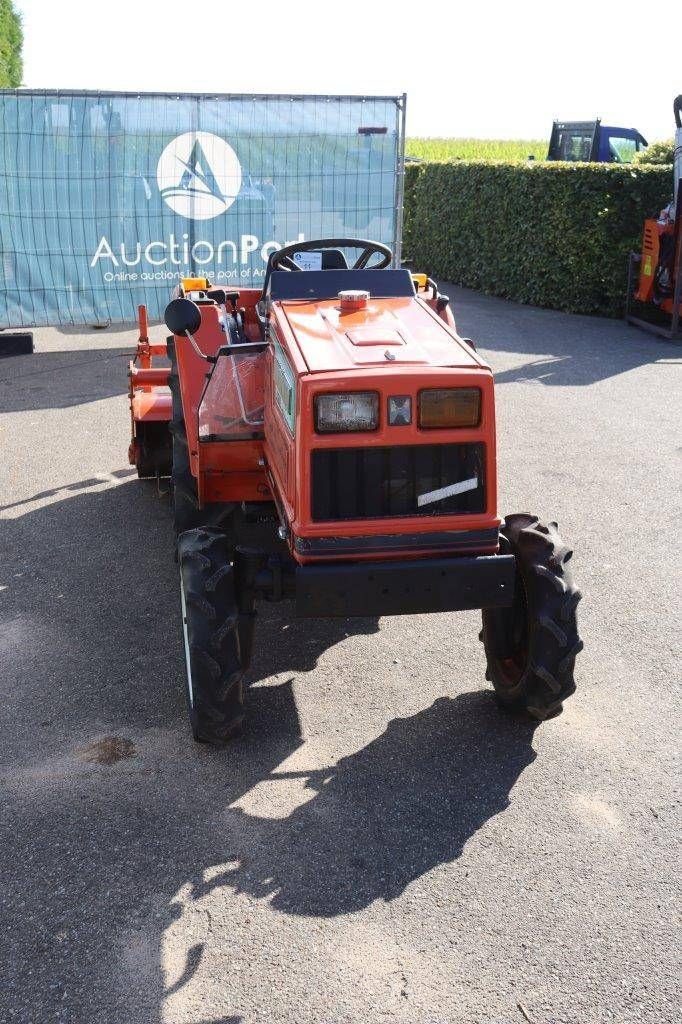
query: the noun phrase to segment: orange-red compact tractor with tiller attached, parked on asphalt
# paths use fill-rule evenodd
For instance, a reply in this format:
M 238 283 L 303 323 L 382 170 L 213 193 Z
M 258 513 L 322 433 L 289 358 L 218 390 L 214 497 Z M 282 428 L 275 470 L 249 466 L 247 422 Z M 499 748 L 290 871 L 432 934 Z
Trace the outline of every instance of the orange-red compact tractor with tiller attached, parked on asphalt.
M 262 291 L 183 281 L 167 346 L 140 331 L 130 460 L 172 479 L 199 740 L 242 728 L 259 600 L 303 616 L 482 608 L 502 705 L 548 719 L 576 688 L 571 551 L 555 522 L 500 517 L 491 368 L 433 282 L 391 261 L 375 242 L 299 242 Z

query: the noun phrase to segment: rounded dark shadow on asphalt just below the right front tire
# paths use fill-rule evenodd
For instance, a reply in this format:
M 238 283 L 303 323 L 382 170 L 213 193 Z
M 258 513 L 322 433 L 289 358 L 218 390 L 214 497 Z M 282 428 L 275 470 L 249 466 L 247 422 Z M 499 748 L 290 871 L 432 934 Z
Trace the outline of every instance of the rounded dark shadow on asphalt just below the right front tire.
M 489 691 L 439 697 L 329 768 L 274 771 L 311 796 L 284 821 L 235 809 L 243 863 L 195 883 L 269 900 L 282 912 L 332 918 L 391 901 L 503 812 L 536 758 L 535 725 L 504 715 Z

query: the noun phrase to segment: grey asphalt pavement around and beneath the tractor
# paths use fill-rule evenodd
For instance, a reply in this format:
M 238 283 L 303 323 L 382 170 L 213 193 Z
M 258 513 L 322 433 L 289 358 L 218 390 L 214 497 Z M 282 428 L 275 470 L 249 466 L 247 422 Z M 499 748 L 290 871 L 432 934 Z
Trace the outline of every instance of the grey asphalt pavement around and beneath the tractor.
M 680 1020 L 682 352 L 451 294 L 497 374 L 501 510 L 558 520 L 585 595 L 537 727 L 497 709 L 477 612 L 284 604 L 247 734 L 195 744 L 134 331 L 0 360 L 0 1020 Z

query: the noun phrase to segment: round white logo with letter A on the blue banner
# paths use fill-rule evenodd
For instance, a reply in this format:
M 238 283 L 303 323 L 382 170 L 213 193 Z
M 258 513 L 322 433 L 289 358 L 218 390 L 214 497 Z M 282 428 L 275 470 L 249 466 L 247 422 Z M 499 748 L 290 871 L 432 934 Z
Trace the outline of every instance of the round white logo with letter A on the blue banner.
M 159 191 L 181 217 L 210 220 L 232 205 L 242 167 L 231 145 L 208 131 L 186 131 L 169 142 L 157 166 Z

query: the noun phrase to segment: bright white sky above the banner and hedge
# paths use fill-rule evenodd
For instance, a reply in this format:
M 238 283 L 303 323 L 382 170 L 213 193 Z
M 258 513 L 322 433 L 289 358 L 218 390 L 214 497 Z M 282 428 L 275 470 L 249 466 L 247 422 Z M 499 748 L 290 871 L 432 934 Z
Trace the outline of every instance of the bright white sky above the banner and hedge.
M 407 92 L 409 135 L 549 138 L 555 118 L 601 117 L 649 141 L 682 92 L 680 0 L 15 6 L 29 88 Z

